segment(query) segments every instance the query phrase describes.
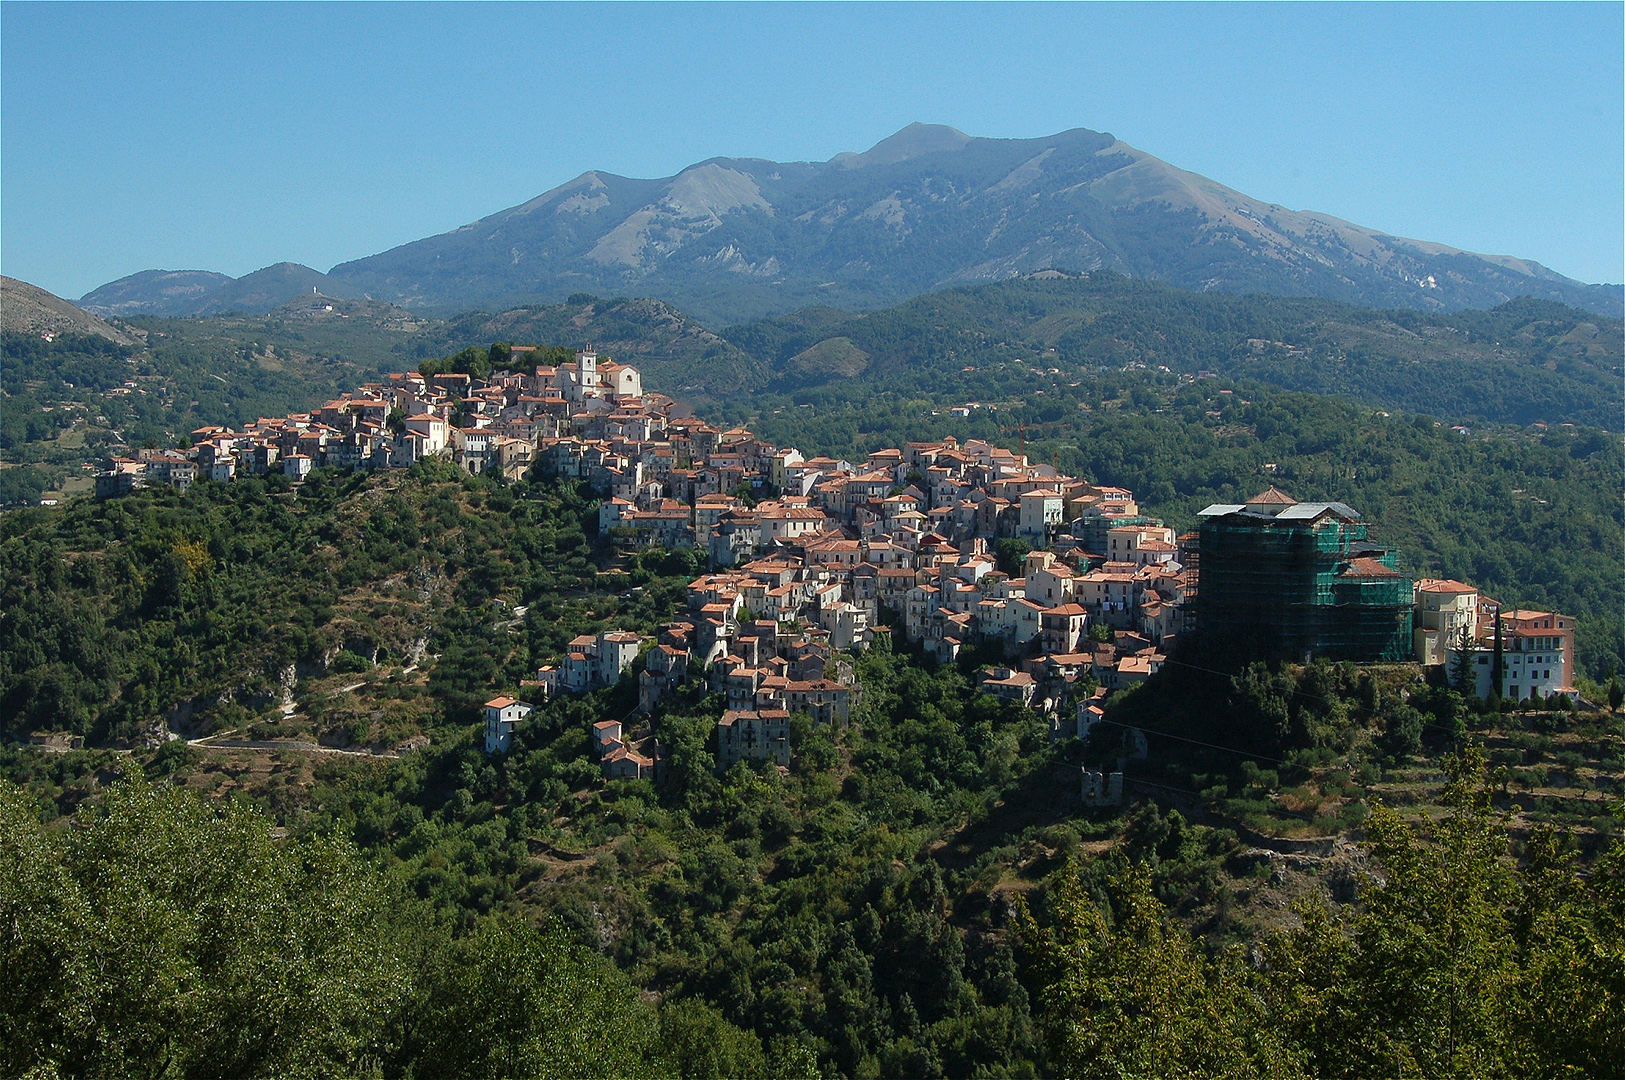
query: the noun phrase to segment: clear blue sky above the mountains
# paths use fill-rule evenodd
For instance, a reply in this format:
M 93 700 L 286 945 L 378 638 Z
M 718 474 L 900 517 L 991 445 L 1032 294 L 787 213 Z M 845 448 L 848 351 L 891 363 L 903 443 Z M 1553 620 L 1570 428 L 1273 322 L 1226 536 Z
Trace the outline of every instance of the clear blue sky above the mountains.
M 317 270 L 587 169 L 1087 127 L 1625 279 L 1625 6 L 0 3 L 0 270 Z

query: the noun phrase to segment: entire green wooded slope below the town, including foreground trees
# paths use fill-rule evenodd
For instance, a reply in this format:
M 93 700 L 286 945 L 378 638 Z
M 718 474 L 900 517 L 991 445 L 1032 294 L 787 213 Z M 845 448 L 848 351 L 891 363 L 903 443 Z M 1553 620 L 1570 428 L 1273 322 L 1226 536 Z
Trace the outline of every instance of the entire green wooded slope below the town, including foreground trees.
M 718 771 L 696 682 L 644 721 L 663 775 L 603 780 L 588 731 L 630 718 L 630 679 L 538 702 L 489 755 L 486 695 L 686 599 L 687 552 L 600 572 L 593 521 L 434 468 L 0 516 L 0 702 L 58 736 L 0 747 L 26 916 L 0 992 L 36 1002 L 6 1070 L 1072 1075 L 1089 996 L 1160 1025 L 1154 1075 L 1365 1075 L 1328 1065 L 1370 1062 L 1368 1033 L 1378 1075 L 1606 1075 L 1615 713 L 1477 713 L 1409 666 L 1170 666 L 1112 706 L 1154 754 L 1090 807 L 1110 741 L 882 638 L 852 723 L 793 721 L 786 768 Z M 1454 1048 L 1409 991 L 1446 983 L 1482 1017 Z M 1586 1007 L 1554 1015 L 1554 984 Z M 214 1036 L 232 1010 L 247 1046 Z M 1141 1026 L 1082 1015 L 1090 1062 L 1146 1064 Z M 604 1022 L 635 1035 L 606 1052 Z M 150 1035 L 86 1033 L 112 1025 Z

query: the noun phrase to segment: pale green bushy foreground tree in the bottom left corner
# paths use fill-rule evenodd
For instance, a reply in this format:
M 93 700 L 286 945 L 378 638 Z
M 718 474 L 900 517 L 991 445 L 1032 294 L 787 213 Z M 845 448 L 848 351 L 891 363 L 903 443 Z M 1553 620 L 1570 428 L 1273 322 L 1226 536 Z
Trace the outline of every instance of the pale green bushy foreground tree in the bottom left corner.
M 0 1072 L 353 1074 L 408 986 L 384 882 L 242 804 L 127 780 L 46 832 L 0 781 Z

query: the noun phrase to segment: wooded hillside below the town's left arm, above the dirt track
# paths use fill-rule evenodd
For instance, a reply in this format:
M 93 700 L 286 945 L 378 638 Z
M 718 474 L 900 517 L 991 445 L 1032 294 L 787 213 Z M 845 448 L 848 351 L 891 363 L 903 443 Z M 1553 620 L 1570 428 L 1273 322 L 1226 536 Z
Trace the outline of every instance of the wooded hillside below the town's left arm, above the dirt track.
M 318 473 L 297 494 L 245 477 L 0 516 L 5 734 L 119 741 L 161 715 L 237 726 L 304 677 L 427 653 L 444 653 L 431 685 L 455 713 L 614 616 L 652 625 L 694 570 L 676 554 L 660 588 L 622 598 L 629 577 L 598 573 L 575 494 L 457 476 Z M 531 619 L 505 616 L 526 604 Z M 314 708 L 312 734 L 344 742 L 418 731 L 405 706 L 370 721 Z

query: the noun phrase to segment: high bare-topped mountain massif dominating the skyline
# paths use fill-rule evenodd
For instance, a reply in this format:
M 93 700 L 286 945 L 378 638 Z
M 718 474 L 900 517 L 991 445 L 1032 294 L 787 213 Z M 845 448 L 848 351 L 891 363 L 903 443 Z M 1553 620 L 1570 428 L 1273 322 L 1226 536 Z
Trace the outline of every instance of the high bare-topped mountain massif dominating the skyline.
M 658 180 L 585 172 L 328 278 L 442 309 L 655 296 L 722 323 L 874 309 L 1048 268 L 1417 310 L 1519 296 L 1625 309 L 1617 286 L 1263 203 L 1102 132 L 996 140 L 923 123 L 826 162 L 713 158 Z

